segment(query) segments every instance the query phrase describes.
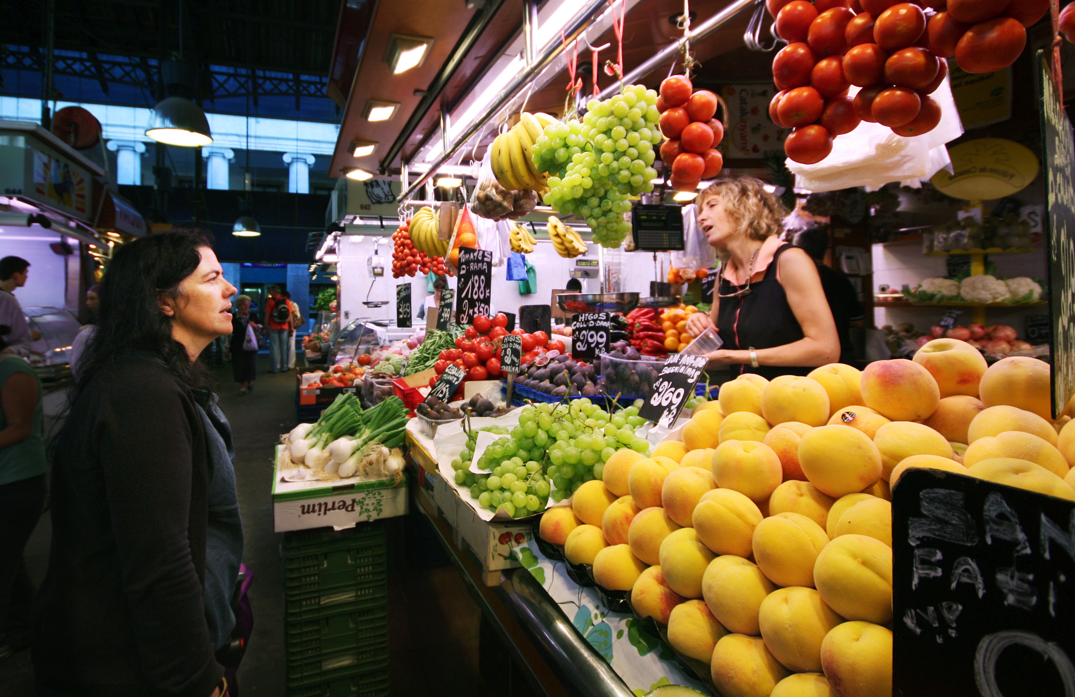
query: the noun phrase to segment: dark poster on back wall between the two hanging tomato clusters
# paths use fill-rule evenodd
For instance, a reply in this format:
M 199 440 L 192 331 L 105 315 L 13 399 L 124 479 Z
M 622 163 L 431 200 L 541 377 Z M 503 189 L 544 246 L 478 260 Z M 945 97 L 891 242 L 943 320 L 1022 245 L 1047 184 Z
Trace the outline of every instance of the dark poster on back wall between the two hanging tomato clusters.
M 783 157 L 789 131 L 769 118 L 775 90 L 772 83 L 725 85 L 720 90 L 728 103 L 728 128 L 720 144 L 725 158 L 761 159 L 774 153 Z

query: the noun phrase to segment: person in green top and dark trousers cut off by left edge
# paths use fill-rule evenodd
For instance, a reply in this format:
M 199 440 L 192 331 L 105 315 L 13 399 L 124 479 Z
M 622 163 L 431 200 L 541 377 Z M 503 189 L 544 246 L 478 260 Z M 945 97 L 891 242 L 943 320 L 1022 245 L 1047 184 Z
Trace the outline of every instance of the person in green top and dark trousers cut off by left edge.
M 30 645 L 33 584 L 23 551 L 45 500 L 41 380 L 0 325 L 0 660 Z

